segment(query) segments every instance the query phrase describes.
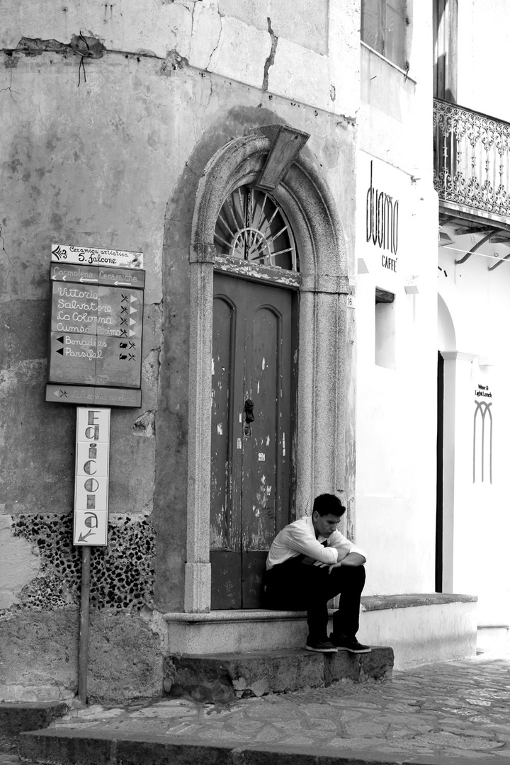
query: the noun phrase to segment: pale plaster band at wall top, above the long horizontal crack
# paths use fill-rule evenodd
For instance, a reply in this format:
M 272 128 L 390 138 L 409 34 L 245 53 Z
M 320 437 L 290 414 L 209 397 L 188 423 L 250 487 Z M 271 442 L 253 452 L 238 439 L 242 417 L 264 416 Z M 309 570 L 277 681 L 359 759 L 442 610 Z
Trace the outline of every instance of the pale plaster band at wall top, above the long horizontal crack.
M 68 43 L 81 32 L 97 37 L 109 51 L 161 59 L 174 51 L 192 67 L 256 88 L 262 86 L 276 38 L 271 93 L 336 114 L 356 113 L 356 0 L 160 0 L 148 5 L 78 0 L 58 7 L 50 0 L 8 0 L 6 5 L 3 50 L 15 50 L 21 37 Z

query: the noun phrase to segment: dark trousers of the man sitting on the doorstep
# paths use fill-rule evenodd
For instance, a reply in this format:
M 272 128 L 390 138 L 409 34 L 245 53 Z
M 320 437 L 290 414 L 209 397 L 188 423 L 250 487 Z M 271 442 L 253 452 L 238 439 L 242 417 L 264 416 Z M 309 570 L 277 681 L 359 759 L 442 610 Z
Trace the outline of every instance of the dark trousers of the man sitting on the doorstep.
M 310 640 L 327 640 L 327 602 L 340 593 L 333 614 L 333 634 L 354 637 L 359 629 L 359 604 L 365 585 L 364 566 L 321 568 L 310 558 L 291 558 L 273 566 L 265 575 L 268 607 L 306 610 Z

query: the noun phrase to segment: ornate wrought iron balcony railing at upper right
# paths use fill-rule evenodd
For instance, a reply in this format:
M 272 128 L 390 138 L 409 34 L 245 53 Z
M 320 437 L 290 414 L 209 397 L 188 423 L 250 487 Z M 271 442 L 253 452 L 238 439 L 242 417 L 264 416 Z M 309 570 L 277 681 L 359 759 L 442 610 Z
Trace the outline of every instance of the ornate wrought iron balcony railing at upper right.
M 493 220 L 508 218 L 508 122 L 434 99 L 434 186 L 447 206 Z

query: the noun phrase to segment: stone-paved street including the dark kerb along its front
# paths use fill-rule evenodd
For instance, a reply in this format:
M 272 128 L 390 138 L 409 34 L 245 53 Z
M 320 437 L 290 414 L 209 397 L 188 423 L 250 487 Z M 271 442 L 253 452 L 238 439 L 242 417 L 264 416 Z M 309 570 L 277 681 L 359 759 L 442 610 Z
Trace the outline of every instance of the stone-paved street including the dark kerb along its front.
M 333 682 L 226 705 L 161 699 L 104 715 L 77 710 L 33 734 L 39 749 L 24 741 L 21 750 L 33 763 L 42 751 L 41 761 L 55 765 L 510 765 L 509 693 L 510 652 L 497 662 L 476 656 L 395 672 L 378 685 Z M 42 734 L 52 741 L 41 743 Z

